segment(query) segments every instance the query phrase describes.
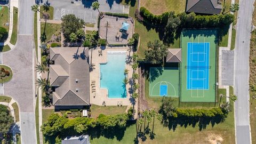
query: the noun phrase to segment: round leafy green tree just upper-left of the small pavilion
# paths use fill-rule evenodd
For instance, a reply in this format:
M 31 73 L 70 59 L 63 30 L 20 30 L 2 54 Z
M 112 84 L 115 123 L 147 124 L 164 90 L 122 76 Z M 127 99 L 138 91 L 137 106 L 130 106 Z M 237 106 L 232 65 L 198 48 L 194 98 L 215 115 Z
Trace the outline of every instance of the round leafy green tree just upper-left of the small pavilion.
M 146 61 L 152 64 L 160 64 L 163 62 L 164 57 L 167 55 L 167 47 L 156 40 L 154 42 L 148 42 L 148 50 L 145 51 Z

